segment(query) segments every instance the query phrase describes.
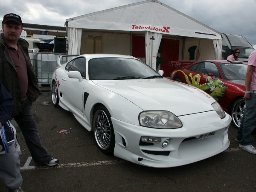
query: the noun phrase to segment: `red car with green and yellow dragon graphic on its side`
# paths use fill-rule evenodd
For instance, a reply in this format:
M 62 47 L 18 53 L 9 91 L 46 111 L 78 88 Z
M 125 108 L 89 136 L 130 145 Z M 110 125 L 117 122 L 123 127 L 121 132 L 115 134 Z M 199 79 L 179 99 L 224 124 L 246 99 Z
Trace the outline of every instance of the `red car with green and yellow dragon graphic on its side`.
M 247 64 L 229 60 L 172 61 L 171 67 L 172 80 L 207 92 L 239 127 L 245 108 L 243 97 Z

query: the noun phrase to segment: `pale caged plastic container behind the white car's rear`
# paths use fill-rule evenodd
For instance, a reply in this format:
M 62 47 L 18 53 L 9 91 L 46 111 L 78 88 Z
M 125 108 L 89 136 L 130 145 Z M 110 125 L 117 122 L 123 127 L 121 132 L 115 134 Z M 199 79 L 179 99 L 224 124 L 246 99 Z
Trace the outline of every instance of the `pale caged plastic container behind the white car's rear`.
M 59 54 L 58 54 L 59 55 Z M 58 55 L 54 53 L 37 54 L 37 79 L 39 87 L 51 87 L 52 74 L 58 67 Z M 61 64 L 67 62 L 67 57 L 61 58 Z

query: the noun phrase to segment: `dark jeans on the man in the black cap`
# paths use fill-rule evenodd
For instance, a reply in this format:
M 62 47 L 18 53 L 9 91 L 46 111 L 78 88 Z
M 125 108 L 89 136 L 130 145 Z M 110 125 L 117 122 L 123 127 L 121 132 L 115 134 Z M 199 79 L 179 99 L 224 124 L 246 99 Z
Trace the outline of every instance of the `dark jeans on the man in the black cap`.
M 32 113 L 32 101 L 29 98 L 23 101 L 22 111 L 19 115 L 14 116 L 14 119 L 20 127 L 26 145 L 35 163 L 44 165 L 51 160 L 52 156 L 48 154 L 47 149 L 41 144 L 39 132 L 36 128 Z

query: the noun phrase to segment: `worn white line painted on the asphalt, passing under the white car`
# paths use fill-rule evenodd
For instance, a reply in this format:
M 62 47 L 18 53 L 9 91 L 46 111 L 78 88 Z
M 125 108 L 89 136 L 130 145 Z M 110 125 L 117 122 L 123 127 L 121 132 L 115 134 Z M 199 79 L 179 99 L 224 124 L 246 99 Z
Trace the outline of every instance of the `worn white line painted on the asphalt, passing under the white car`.
M 229 148 L 224 152 L 234 152 L 239 151 L 241 148 Z M 118 164 L 118 163 L 125 163 L 125 160 L 110 160 L 110 161 L 95 161 L 95 162 L 88 162 L 88 163 L 63 163 L 58 164 L 54 167 L 49 166 L 29 166 L 30 162 L 32 160 L 32 157 L 29 157 L 24 164 L 23 167 L 20 167 L 21 170 L 29 170 L 29 169 L 50 169 L 50 168 L 70 168 L 70 167 L 87 167 L 87 166 L 100 166 L 100 165 L 112 165 L 112 164 Z

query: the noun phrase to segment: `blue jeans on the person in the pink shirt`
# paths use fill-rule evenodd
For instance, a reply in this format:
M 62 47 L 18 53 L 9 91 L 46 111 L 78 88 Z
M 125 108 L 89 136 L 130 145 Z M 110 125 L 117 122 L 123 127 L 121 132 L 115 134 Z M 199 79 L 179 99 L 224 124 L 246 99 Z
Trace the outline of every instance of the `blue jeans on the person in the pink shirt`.
M 250 99 L 245 101 L 244 115 L 241 120 L 236 138 L 241 145 L 251 145 L 251 133 L 256 128 L 256 93 L 251 93 Z

